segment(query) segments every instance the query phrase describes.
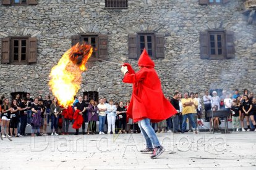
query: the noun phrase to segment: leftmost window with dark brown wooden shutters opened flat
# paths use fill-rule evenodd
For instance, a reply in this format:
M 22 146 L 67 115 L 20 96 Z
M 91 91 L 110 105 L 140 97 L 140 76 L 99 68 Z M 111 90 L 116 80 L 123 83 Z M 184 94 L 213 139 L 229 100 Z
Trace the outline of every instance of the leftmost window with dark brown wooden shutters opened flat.
M 1 63 L 35 63 L 36 42 L 30 37 L 2 38 Z

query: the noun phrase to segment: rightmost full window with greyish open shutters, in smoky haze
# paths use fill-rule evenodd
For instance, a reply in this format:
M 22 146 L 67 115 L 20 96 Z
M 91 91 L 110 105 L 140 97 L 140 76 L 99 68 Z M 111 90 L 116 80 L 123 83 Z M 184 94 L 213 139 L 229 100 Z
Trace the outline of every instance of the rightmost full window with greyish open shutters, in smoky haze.
M 234 33 L 232 31 L 206 31 L 200 33 L 201 59 L 233 59 Z

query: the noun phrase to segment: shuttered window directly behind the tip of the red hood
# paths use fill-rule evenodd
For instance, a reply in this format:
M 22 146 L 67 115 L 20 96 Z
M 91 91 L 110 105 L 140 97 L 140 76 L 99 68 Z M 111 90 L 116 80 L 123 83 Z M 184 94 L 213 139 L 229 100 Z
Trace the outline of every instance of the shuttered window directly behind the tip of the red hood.
M 164 34 L 129 34 L 129 58 L 138 59 L 143 49 L 147 49 L 152 58 L 164 58 Z

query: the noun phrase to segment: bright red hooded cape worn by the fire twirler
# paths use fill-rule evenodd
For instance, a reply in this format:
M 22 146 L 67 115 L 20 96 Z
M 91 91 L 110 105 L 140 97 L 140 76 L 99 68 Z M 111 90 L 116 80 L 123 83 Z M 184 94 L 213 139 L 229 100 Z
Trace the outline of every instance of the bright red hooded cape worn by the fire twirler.
M 154 69 L 155 63 L 145 49 L 138 65 L 143 67 L 135 73 L 129 63 L 124 63 L 129 73 L 126 73 L 122 81 L 133 84 L 132 99 L 127 110 L 129 118 L 134 119 L 134 122 L 149 118 L 152 123 L 156 123 L 175 115 L 177 111 L 164 97 L 160 79 Z

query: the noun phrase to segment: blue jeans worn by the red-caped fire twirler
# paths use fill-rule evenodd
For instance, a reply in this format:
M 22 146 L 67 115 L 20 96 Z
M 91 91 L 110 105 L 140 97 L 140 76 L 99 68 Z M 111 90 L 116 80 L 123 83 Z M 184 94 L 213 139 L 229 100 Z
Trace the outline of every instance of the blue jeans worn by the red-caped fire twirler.
M 158 138 L 156 136 L 156 133 L 152 126 L 150 126 L 150 119 L 142 119 L 139 121 L 139 127 L 140 131 L 142 131 L 143 137 L 146 140 L 146 147 L 147 148 L 153 148 L 154 147 L 160 147 L 160 143 L 158 141 Z

